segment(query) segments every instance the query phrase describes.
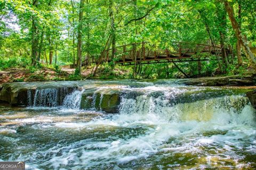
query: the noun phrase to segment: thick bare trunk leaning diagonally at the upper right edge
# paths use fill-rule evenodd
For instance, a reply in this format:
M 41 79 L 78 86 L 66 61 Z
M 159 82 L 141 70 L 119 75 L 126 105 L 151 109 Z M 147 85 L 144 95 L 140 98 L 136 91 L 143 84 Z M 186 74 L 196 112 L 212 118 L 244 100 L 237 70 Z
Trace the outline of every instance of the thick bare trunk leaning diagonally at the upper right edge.
M 225 7 L 226 7 L 226 11 L 228 12 L 228 16 L 229 16 L 229 19 L 231 21 L 233 30 L 234 30 L 234 32 L 236 34 L 236 38 L 238 39 L 239 43 L 242 45 L 242 48 L 244 50 L 244 53 L 245 53 L 246 57 L 248 58 L 248 60 L 250 61 L 250 63 L 254 67 L 254 69 L 256 70 L 256 58 L 253 55 L 253 53 L 251 52 L 251 49 L 246 44 L 246 42 L 245 42 L 245 40 L 244 40 L 244 38 L 242 36 L 241 30 L 239 28 L 239 25 L 238 25 L 238 23 L 237 23 L 237 21 L 235 19 L 233 6 L 230 5 L 230 3 L 226 1 L 225 2 Z

